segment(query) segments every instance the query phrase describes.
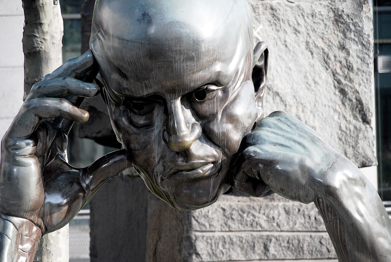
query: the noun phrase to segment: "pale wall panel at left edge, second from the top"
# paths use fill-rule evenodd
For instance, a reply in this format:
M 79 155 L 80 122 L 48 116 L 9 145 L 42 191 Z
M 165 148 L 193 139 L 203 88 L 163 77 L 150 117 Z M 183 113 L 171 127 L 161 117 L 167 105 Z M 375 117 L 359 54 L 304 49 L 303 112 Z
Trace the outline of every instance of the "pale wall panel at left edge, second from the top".
M 0 50 L 2 50 L 0 67 L 22 66 L 23 68 L 23 23 L 24 16 L 0 16 Z

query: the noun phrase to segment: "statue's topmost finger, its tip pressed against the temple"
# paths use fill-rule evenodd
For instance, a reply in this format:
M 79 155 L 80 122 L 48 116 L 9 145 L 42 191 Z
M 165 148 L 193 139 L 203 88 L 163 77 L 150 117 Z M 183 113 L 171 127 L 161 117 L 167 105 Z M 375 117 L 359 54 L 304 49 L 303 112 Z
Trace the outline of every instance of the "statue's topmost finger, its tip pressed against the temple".
M 59 68 L 54 70 L 52 74 L 45 75 L 42 80 L 69 76 L 85 82 L 92 82 L 98 71 L 97 61 L 95 60 L 92 51 L 88 50 L 79 57 L 69 59 Z

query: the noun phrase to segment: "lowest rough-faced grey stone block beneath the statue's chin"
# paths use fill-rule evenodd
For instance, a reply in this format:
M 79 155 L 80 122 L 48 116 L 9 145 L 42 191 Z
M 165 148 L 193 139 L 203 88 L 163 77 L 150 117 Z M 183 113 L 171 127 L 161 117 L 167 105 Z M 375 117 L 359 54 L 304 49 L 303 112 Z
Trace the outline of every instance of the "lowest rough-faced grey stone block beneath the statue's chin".
M 215 232 L 189 238 L 187 262 L 336 258 L 327 233 Z

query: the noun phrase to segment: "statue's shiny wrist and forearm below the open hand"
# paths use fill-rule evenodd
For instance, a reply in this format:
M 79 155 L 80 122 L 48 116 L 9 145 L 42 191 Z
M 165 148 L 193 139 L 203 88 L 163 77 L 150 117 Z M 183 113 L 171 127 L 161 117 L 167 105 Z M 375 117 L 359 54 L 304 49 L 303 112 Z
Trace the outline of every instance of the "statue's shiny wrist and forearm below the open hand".
M 0 262 L 32 262 L 40 238 L 30 220 L 0 213 Z

